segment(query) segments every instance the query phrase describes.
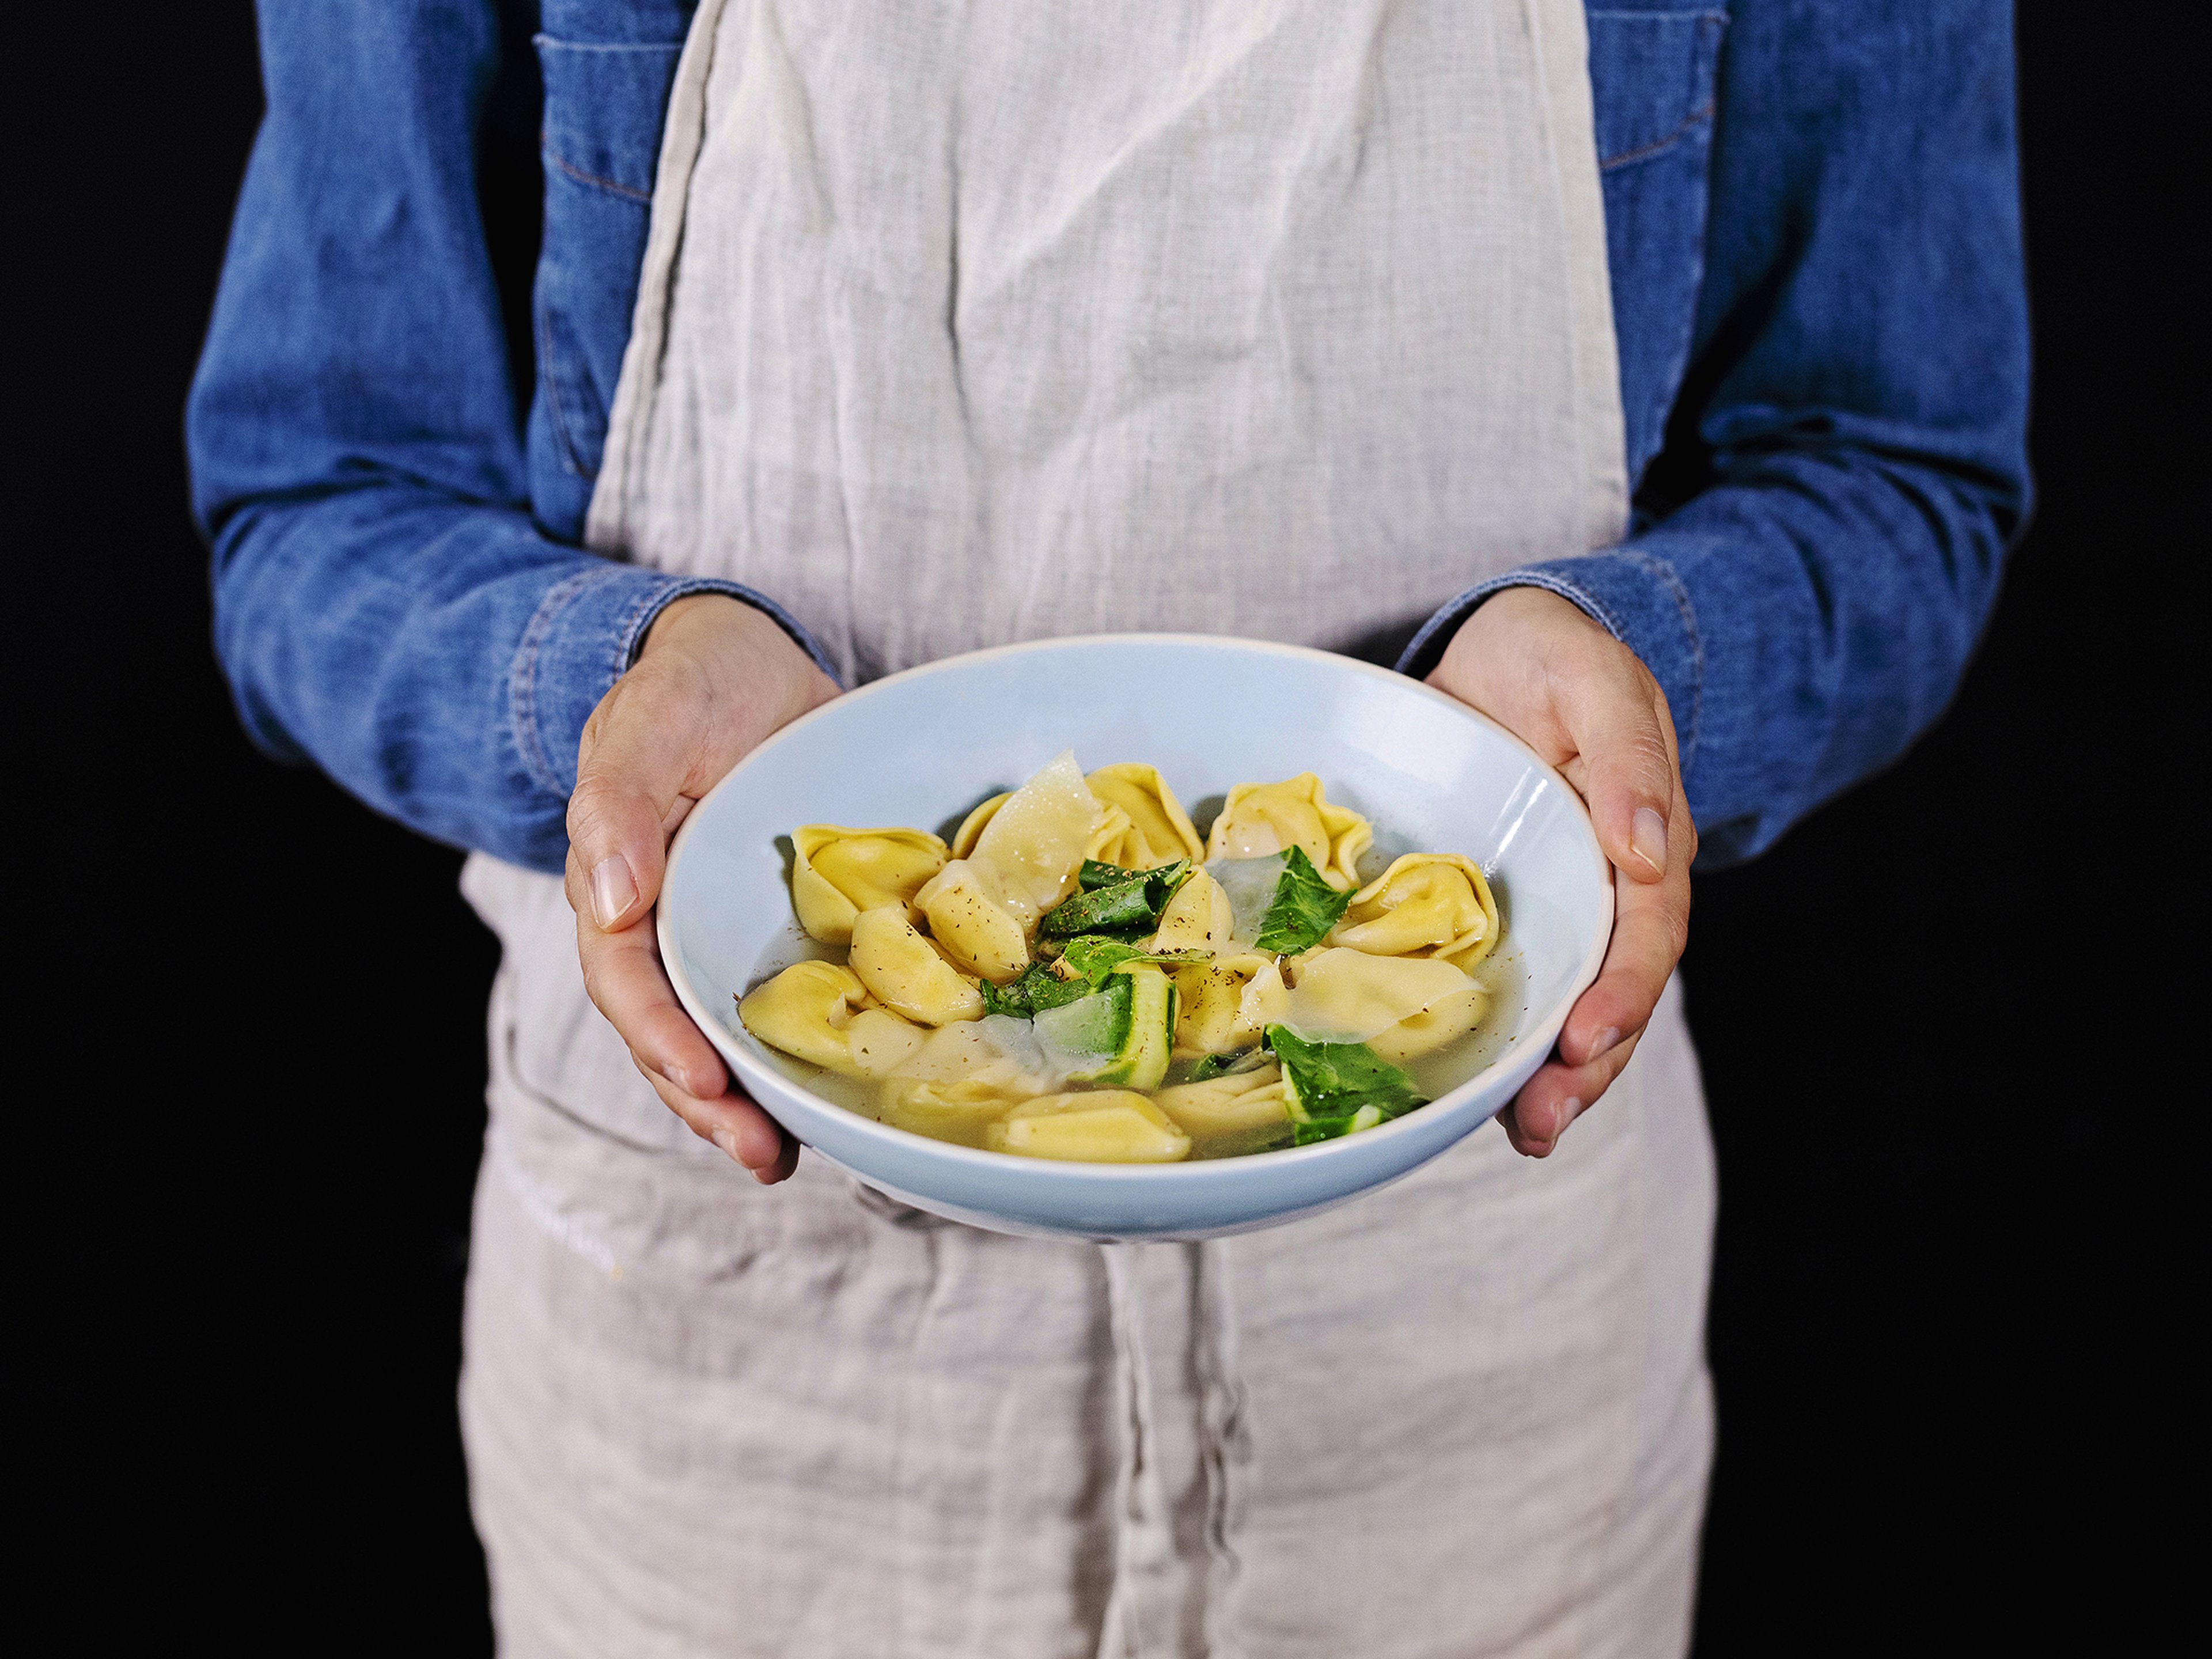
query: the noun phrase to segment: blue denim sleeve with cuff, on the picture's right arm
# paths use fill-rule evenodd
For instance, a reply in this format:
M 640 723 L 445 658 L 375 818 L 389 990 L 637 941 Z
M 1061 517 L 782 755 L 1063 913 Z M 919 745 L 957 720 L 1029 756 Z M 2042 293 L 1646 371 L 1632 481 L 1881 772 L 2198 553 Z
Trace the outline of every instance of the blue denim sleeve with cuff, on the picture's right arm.
M 1400 666 L 1504 586 L 1573 599 L 1666 690 L 1701 863 L 1730 863 L 1938 719 L 2028 509 L 2008 7 L 1743 0 L 1710 190 L 1630 538 L 1462 593 Z

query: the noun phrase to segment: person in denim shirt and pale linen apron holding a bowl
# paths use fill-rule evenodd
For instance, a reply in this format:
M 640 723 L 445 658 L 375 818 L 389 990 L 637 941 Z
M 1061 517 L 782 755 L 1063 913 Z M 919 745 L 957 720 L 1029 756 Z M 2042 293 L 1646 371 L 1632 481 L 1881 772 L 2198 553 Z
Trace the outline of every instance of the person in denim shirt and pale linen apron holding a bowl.
M 2020 531 L 2008 11 L 540 22 L 526 420 L 491 0 L 263 9 L 188 409 L 246 728 L 473 849 L 504 947 L 462 1376 L 502 1650 L 1681 1652 L 1690 865 L 1938 717 Z M 653 945 L 688 805 L 843 686 L 1119 628 L 1405 644 L 1586 794 L 1610 953 L 1500 1133 L 1093 1248 L 734 1091 Z

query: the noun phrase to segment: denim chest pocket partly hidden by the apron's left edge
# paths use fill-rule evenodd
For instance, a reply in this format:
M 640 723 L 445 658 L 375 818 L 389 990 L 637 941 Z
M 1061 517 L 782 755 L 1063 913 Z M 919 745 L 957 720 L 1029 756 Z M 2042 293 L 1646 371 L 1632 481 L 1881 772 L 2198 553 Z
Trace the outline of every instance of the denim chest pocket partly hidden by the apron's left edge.
M 637 303 L 668 88 L 681 42 L 538 35 L 544 75 L 544 241 L 533 327 L 531 484 L 538 518 L 575 535 Z

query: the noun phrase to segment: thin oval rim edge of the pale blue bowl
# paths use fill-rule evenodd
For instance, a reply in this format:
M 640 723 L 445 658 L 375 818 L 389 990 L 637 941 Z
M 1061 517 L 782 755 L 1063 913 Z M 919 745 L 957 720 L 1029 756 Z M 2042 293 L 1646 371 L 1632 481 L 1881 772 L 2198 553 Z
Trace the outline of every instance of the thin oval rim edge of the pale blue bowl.
M 1378 679 L 1391 681 L 1400 690 L 1411 690 L 1420 697 L 1429 697 L 1449 708 L 1453 714 L 1475 721 L 1478 726 L 1486 726 L 1493 734 L 1502 737 L 1509 745 L 1520 750 L 1522 757 L 1528 761 L 1528 765 L 1533 765 L 1537 772 L 1548 776 L 1566 792 L 1568 803 L 1573 803 L 1575 807 L 1575 818 L 1582 825 L 1586 852 L 1597 865 L 1599 885 L 1606 891 L 1613 889 L 1615 883 L 1613 860 L 1606 858 L 1606 849 L 1597 841 L 1597 825 L 1590 821 L 1590 807 L 1582 799 L 1582 792 L 1575 790 L 1575 785 L 1568 783 L 1566 776 L 1555 765 L 1546 763 L 1542 754 L 1528 748 L 1528 743 L 1524 743 L 1511 730 L 1500 726 L 1482 710 L 1462 703 L 1458 697 L 1436 690 L 1436 686 L 1429 686 L 1409 675 L 1400 675 L 1396 668 L 1380 668 L 1371 661 L 1360 661 L 1358 657 L 1345 657 L 1336 650 L 1318 650 L 1314 646 L 1287 646 L 1274 639 L 1239 639 L 1237 635 L 1210 635 L 1210 633 L 1086 633 L 1086 635 L 1064 635 L 1055 639 L 1022 639 L 1009 646 L 984 646 L 982 650 L 964 650 L 956 657 L 938 657 L 936 661 L 918 664 L 914 668 L 902 668 L 896 675 L 885 675 L 883 679 L 872 679 L 865 686 L 856 686 L 849 692 L 841 692 L 838 697 L 832 697 L 827 703 L 810 708 L 790 726 L 770 732 L 737 765 L 723 772 L 721 779 L 714 783 L 714 787 L 701 794 L 697 805 L 692 805 L 692 810 L 684 814 L 684 823 L 677 825 L 677 832 L 668 843 L 668 854 L 661 860 L 661 896 L 666 898 L 668 887 L 675 880 L 677 860 L 690 845 L 690 834 L 706 814 L 706 805 L 726 787 L 730 787 L 737 781 L 737 776 L 748 765 L 752 765 L 757 757 L 805 732 L 818 719 L 830 714 L 830 710 L 847 708 L 854 699 L 874 697 L 876 692 L 889 686 L 900 686 L 905 681 L 922 679 L 927 675 L 940 675 L 951 668 L 964 668 L 998 657 L 1064 650 L 1071 646 L 1214 646 L 1214 648 L 1241 650 L 1248 655 L 1305 657 L 1305 659 L 1327 661 L 1332 668 L 1349 668 L 1363 675 L 1374 675 Z M 1553 1044 L 1559 1042 L 1559 1031 L 1566 1026 L 1566 1015 L 1573 1011 L 1582 993 L 1588 991 L 1590 984 L 1595 984 L 1597 973 L 1606 960 L 1606 949 L 1613 945 L 1613 927 L 1615 927 L 1615 911 L 1608 909 L 1606 925 L 1597 931 L 1597 938 L 1584 951 L 1584 958 L 1575 969 L 1575 978 L 1568 991 L 1528 1033 L 1531 1042 L 1542 1040 L 1544 1044 L 1542 1053 L 1548 1055 Z M 1091 1181 L 1135 1183 L 1135 1181 L 1221 1179 L 1219 1170 L 1223 1166 L 1243 1166 L 1248 1161 L 1263 1161 L 1265 1168 L 1285 1168 L 1287 1161 L 1305 1166 L 1332 1155 L 1347 1152 L 1354 1148 L 1354 1144 L 1365 1144 L 1365 1152 L 1376 1155 L 1383 1150 L 1383 1141 L 1389 1137 L 1402 1133 L 1422 1133 L 1422 1126 L 1416 1119 L 1425 1117 L 1427 1126 L 1433 1130 L 1438 1113 L 1449 1117 L 1464 1110 L 1469 1104 L 1473 1104 L 1482 1082 L 1491 1077 L 1491 1073 L 1495 1073 L 1511 1057 L 1511 1055 L 1498 1055 L 1473 1077 L 1464 1079 L 1455 1088 L 1449 1088 L 1438 1099 L 1420 1106 L 1413 1113 L 1394 1117 L 1387 1124 L 1376 1124 L 1374 1128 L 1360 1130 L 1358 1135 L 1340 1135 L 1336 1139 L 1314 1141 L 1310 1146 L 1279 1148 L 1274 1152 L 1267 1152 L 1265 1159 L 1199 1159 L 1181 1164 L 1084 1164 L 1064 1159 L 1018 1157 L 1013 1152 L 991 1152 L 975 1146 L 960 1146 L 956 1141 L 940 1141 L 931 1135 L 916 1135 L 914 1130 L 894 1128 L 891 1124 L 878 1121 L 874 1117 L 863 1117 L 860 1113 L 849 1110 L 847 1106 L 838 1106 L 834 1099 L 827 1099 L 825 1095 L 816 1095 L 794 1077 L 785 1077 L 783 1073 L 761 1064 L 757 1057 L 745 1053 L 745 1048 L 730 1035 L 730 1031 L 719 1020 L 712 1018 L 712 1013 L 706 1006 L 706 1000 L 692 987 L 690 973 L 684 971 L 684 956 L 677 949 L 675 927 L 668 918 L 668 905 L 661 902 L 659 898 L 653 905 L 653 933 L 661 951 L 661 971 L 668 973 L 668 982 L 675 987 L 677 1002 L 684 1006 L 684 1013 L 690 1015 L 692 1024 L 697 1024 L 701 1033 L 706 1033 L 706 1040 L 712 1042 L 714 1048 L 723 1055 L 723 1060 L 730 1062 L 730 1071 L 748 1088 L 765 1086 L 765 1091 L 770 1095 L 776 1095 L 779 1099 L 792 1095 L 796 1097 L 803 1110 L 838 1113 L 843 1119 L 838 1124 L 841 1130 L 856 1133 L 863 1141 L 876 1141 L 887 1152 L 894 1155 L 896 1152 L 907 1152 L 907 1155 L 922 1152 L 925 1157 L 942 1155 L 951 1159 L 956 1168 L 969 1166 L 978 1172 L 995 1170 L 1000 1175 L 1020 1172 L 1020 1179 L 1044 1181 L 1044 1183 L 1091 1183 Z M 754 1037 L 754 1042 L 759 1042 L 759 1037 Z M 757 1104 L 761 1104 L 765 1110 L 765 1102 Z M 1504 1102 L 1500 1102 L 1498 1108 L 1502 1110 L 1502 1106 Z

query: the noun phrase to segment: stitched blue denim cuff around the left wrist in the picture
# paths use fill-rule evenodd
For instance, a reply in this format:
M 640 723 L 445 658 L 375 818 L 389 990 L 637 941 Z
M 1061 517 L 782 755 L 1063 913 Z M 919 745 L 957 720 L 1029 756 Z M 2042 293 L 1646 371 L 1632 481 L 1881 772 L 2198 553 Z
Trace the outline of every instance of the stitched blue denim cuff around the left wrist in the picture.
M 692 593 L 728 593 L 763 611 L 830 679 L 836 668 L 799 622 L 739 582 L 675 577 L 635 564 L 593 564 L 553 584 L 538 604 L 509 675 L 509 721 L 531 781 L 566 799 L 584 721 L 637 661 L 653 619 Z

